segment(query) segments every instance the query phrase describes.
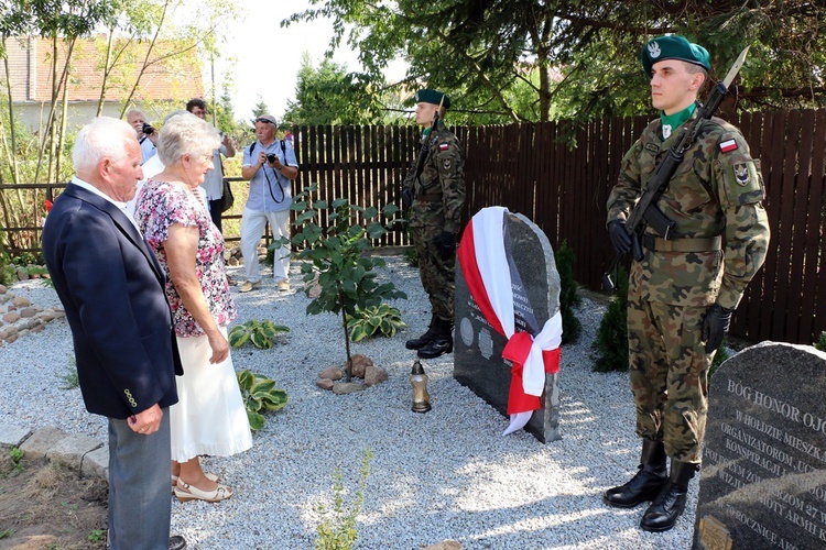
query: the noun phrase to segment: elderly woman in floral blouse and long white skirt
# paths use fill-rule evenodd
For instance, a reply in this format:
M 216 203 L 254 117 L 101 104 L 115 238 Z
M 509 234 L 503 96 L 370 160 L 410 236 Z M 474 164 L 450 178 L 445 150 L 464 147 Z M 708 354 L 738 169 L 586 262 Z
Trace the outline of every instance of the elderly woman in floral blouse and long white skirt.
M 218 134 L 191 113 L 170 118 L 157 142 L 165 168 L 137 200 L 135 220 L 167 274 L 184 376 L 170 409 L 172 481 L 180 501 L 224 501 L 232 491 L 204 473 L 198 457 L 229 457 L 252 446 L 227 326 L 236 318 L 224 268 L 224 238 L 198 185 L 213 169 Z

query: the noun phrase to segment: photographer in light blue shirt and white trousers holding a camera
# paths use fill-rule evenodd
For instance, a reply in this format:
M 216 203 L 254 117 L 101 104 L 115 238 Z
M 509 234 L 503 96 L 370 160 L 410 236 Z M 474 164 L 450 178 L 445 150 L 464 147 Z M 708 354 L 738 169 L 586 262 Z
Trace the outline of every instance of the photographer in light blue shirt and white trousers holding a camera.
M 241 293 L 252 290 L 261 282 L 258 265 L 258 244 L 264 227 L 270 222 L 274 239 L 290 237 L 290 205 L 293 204 L 292 180 L 298 175 L 292 142 L 275 140 L 278 123 L 271 114 L 256 119 L 256 138 L 243 150 L 241 177 L 249 179 L 250 194 L 241 216 L 241 254 L 247 280 L 238 287 Z M 290 246 L 275 251 L 272 266 L 279 290 L 290 290 Z

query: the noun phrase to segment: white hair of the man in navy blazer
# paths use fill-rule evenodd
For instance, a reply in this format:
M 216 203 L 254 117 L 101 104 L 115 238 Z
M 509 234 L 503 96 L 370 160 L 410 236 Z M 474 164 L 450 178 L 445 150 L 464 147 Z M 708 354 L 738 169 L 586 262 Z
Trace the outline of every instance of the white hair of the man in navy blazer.
M 98 117 L 86 124 L 75 138 L 72 162 L 75 172 L 94 169 L 102 158 L 119 163 L 127 156 L 127 143 L 133 141 L 134 129 L 124 120 Z

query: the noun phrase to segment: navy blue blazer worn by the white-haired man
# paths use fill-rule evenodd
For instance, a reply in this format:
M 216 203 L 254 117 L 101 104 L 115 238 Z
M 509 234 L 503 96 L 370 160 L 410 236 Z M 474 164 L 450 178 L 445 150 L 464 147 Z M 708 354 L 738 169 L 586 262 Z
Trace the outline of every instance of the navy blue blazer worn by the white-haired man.
M 69 184 L 43 228 L 89 413 L 124 419 L 177 403 L 183 374 L 157 258 L 110 201 Z

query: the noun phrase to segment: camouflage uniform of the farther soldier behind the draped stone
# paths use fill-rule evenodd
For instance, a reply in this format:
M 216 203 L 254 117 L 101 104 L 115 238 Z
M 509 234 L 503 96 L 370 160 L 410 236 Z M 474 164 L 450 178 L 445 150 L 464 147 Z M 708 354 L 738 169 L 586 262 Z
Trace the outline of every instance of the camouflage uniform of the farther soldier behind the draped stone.
M 439 120 L 422 138 L 430 142 L 427 158 L 417 179 L 415 166 L 404 187 L 415 190 L 410 208 L 410 227 L 419 255 L 422 286 L 431 298 L 432 312 L 453 323 L 456 255 L 443 260 L 434 239 L 447 231 L 458 234 L 465 206 L 465 151 L 456 135 Z

